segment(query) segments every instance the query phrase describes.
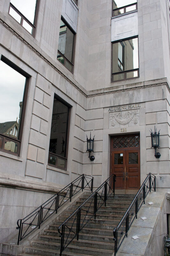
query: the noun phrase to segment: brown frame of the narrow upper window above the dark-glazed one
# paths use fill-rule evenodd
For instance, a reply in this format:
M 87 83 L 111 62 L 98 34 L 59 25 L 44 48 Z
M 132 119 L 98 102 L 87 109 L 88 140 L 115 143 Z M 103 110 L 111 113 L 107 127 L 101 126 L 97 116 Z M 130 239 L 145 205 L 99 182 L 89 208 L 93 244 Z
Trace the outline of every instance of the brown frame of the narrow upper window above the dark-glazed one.
M 64 59 L 64 64 L 60 61 L 60 60 L 58 60 L 58 58 L 57 58 L 57 60 L 65 67 L 65 68 L 67 68 L 66 66 L 65 66 L 65 63 L 66 63 L 66 61 L 67 62 L 69 62 L 69 64 L 71 65 L 71 67 L 72 67 L 72 69 L 71 69 L 71 73 L 73 74 L 73 72 L 74 72 L 74 57 L 75 57 L 75 42 L 76 42 L 76 33 L 74 32 L 74 30 L 70 27 L 70 25 L 64 20 L 64 18 L 61 16 L 61 20 L 63 21 L 63 23 L 70 29 L 70 31 L 73 33 L 73 48 L 72 48 L 72 62 L 70 62 L 70 60 L 68 60 L 64 55 L 63 55 L 63 53 L 61 53 L 58 49 L 57 49 L 57 55 L 58 55 L 58 53 L 61 55 L 61 57 L 63 57 L 63 59 Z M 61 26 L 60 26 L 61 27 Z M 60 36 L 60 32 L 59 32 L 59 36 Z

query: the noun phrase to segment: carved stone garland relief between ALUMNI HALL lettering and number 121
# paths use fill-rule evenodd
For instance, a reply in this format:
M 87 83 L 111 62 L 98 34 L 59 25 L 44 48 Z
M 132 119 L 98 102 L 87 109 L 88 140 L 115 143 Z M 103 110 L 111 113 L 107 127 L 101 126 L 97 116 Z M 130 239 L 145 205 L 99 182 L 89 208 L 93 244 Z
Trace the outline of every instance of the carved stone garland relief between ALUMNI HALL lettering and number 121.
M 119 111 L 109 113 L 109 126 L 120 126 L 129 124 L 137 124 L 139 119 L 139 109 L 129 111 Z

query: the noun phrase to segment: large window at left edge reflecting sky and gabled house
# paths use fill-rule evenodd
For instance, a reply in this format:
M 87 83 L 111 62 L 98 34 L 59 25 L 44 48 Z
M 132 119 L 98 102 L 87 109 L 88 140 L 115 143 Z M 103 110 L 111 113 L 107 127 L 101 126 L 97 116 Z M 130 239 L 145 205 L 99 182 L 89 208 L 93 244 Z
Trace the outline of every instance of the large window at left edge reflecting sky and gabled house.
M 28 76 L 4 57 L 0 61 L 0 150 L 19 155 Z

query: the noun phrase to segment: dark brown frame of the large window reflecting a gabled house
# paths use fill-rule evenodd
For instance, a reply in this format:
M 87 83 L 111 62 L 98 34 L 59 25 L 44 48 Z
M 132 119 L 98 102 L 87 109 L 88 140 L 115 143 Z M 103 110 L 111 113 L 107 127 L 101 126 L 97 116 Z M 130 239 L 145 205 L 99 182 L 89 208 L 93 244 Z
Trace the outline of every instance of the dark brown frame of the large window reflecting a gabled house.
M 15 139 L 13 137 L 4 135 L 0 133 L 0 138 L 3 138 L 2 140 L 2 147 L 0 148 L 0 151 L 19 156 L 20 155 L 20 149 L 21 149 L 21 143 L 22 143 L 22 135 L 23 135 L 23 128 L 24 128 L 24 121 L 25 121 L 25 113 L 26 113 L 26 103 L 27 103 L 27 97 L 28 97 L 28 89 L 29 89 L 29 81 L 30 81 L 30 75 L 28 75 L 26 72 L 18 68 L 14 63 L 12 63 L 10 60 L 8 60 L 3 55 L 1 56 L 0 61 L 3 61 L 6 65 L 13 68 L 15 71 L 17 71 L 22 76 L 25 76 L 26 82 L 24 85 L 24 92 L 23 92 L 23 105 L 22 105 L 22 111 L 21 111 L 21 121 L 19 126 L 19 132 L 18 132 L 18 139 Z M 17 153 L 11 152 L 9 150 L 4 149 L 4 144 L 6 140 L 10 140 L 12 142 L 18 143 Z

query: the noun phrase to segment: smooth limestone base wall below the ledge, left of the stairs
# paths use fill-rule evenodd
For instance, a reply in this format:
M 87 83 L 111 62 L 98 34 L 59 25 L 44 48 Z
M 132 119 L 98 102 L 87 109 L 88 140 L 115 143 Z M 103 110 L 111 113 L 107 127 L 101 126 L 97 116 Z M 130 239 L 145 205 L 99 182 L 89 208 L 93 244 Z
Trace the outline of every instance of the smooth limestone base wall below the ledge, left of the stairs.
M 0 242 L 8 242 L 11 236 L 17 236 L 17 220 L 26 217 L 53 195 L 42 191 L 0 187 Z

